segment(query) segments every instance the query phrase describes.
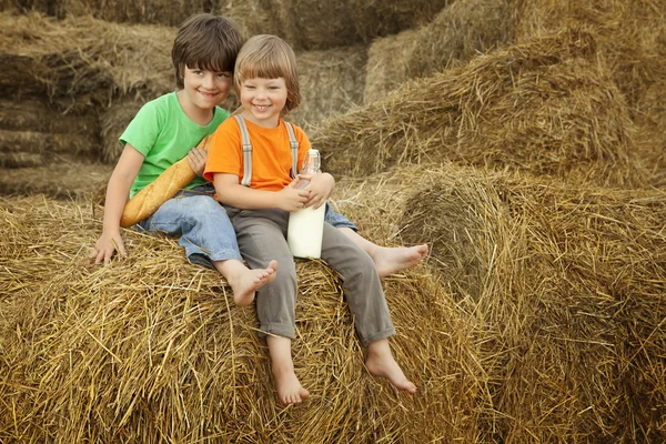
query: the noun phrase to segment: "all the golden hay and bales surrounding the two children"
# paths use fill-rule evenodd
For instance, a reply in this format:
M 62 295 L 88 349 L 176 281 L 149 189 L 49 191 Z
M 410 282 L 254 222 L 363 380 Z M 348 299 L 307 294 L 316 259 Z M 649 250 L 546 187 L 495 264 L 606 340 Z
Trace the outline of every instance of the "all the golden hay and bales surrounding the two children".
M 665 2 L 0 10 L 0 441 L 666 441 Z M 253 309 L 175 240 L 124 231 L 127 260 L 87 264 L 118 135 L 174 89 L 175 27 L 199 11 L 294 46 L 292 119 L 331 203 L 380 244 L 428 242 L 384 282 L 415 396 L 365 372 L 321 263 L 299 263 L 313 396 L 289 408 Z

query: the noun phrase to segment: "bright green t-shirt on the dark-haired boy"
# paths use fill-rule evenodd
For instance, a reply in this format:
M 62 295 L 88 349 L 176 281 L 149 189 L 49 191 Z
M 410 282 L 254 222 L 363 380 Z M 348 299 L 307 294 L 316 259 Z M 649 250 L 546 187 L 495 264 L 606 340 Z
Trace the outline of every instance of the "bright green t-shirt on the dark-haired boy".
M 129 143 L 145 158 L 130 190 L 130 198 L 184 158 L 226 118 L 229 111 L 215 107 L 211 122 L 201 127 L 185 115 L 175 92 L 145 103 L 120 137 L 123 147 Z M 204 183 L 203 178 L 196 176 L 185 188 L 191 189 Z

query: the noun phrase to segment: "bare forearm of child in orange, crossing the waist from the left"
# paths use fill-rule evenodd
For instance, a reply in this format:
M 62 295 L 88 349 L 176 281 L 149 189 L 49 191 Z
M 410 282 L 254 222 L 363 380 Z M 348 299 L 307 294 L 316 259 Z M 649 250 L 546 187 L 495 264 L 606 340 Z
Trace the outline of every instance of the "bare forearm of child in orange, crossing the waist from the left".
M 253 190 L 239 183 L 239 176 L 228 173 L 214 173 L 213 183 L 218 200 L 226 205 L 242 210 L 279 209 L 296 211 L 307 201 L 309 191 L 299 190 L 299 179 L 280 191 Z

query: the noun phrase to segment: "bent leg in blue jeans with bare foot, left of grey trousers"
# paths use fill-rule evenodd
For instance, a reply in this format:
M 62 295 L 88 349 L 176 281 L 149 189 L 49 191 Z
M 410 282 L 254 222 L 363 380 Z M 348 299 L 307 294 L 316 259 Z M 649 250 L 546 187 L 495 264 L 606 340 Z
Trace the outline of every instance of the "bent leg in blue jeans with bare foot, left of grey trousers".
M 239 305 L 252 303 L 254 292 L 275 276 L 275 262 L 259 270 L 250 270 L 243 264 L 233 225 L 211 195 L 181 193 L 164 202 L 139 226 L 144 231 L 179 236 L 188 261 L 215 268 L 229 282 Z

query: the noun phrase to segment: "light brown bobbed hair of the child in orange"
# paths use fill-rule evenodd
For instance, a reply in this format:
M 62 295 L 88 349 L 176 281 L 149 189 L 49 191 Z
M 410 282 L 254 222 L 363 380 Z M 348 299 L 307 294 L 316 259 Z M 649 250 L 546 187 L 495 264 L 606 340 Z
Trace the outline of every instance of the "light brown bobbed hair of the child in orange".
M 295 110 L 301 103 L 296 54 L 281 38 L 260 34 L 245 42 L 239 52 L 233 78 L 239 97 L 243 80 L 253 78 L 284 79 L 287 97 L 282 115 Z

